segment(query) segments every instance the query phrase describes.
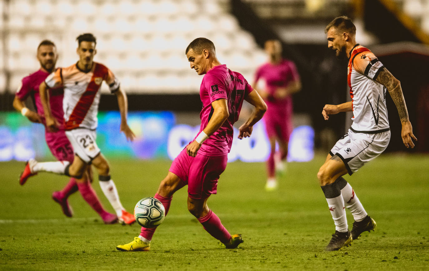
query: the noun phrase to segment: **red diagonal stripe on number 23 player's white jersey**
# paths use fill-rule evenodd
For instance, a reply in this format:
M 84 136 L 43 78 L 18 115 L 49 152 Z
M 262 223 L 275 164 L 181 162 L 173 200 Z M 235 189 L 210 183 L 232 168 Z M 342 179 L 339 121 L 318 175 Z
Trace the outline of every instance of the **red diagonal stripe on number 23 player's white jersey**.
M 72 114 L 70 114 L 69 120 L 66 122 L 65 129 L 72 130 L 79 127 L 79 124 L 82 123 L 86 114 L 88 113 L 89 108 L 94 102 L 94 97 L 100 89 L 100 84 L 95 83 L 95 78 L 101 77 L 104 78 L 107 73 L 107 68 L 104 65 L 95 63 L 94 73 L 91 77 L 91 81 L 88 84 L 85 92 L 79 99 L 79 102 L 73 108 Z

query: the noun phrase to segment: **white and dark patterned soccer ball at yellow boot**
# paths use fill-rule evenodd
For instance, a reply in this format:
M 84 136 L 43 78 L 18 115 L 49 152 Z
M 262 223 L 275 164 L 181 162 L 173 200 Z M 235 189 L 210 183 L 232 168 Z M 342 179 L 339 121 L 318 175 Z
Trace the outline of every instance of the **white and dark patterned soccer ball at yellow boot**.
M 164 221 L 164 205 L 155 198 L 140 199 L 134 207 L 134 217 L 140 226 L 156 228 Z

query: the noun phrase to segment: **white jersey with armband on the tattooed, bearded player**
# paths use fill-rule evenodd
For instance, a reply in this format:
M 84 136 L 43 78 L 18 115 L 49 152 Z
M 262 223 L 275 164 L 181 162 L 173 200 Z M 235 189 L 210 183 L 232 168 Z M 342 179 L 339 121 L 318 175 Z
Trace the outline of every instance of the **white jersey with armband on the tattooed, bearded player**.
M 375 81 L 383 64 L 375 55 L 359 44 L 350 52 L 347 81 L 353 103 L 354 132 L 389 130 L 387 118 L 387 88 Z

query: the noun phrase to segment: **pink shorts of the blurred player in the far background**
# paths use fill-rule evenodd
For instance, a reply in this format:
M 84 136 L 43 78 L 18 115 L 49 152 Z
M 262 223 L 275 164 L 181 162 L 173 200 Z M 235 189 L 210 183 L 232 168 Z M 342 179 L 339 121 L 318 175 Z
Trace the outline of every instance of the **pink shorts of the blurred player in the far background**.
M 263 120 L 269 139 L 278 138 L 289 142 L 289 137 L 293 129 L 290 117 L 282 114 L 265 114 Z

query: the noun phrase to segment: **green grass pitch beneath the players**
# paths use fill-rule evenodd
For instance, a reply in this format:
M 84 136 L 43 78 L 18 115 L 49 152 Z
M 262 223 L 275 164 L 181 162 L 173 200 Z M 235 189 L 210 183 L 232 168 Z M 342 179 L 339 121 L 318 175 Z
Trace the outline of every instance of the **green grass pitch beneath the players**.
M 337 252 L 324 252 L 334 232 L 316 173 L 324 161 L 289 163 L 277 191 L 267 193 L 265 164 L 229 163 L 209 207 L 245 243 L 227 250 L 188 213 L 186 187 L 173 197 L 150 252 L 119 252 L 140 227 L 104 225 L 79 193 L 73 218 L 51 199 L 66 177 L 40 173 L 18 184 L 22 162 L 0 163 L 1 270 L 428 270 L 429 156 L 382 154 L 345 176 L 375 232 Z M 170 161 L 110 160 L 125 208 L 153 196 Z M 97 180 L 97 176 L 95 177 Z M 113 211 L 94 181 L 103 205 Z M 349 226 L 353 223 L 347 211 Z

